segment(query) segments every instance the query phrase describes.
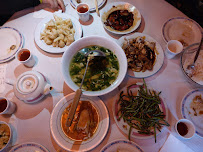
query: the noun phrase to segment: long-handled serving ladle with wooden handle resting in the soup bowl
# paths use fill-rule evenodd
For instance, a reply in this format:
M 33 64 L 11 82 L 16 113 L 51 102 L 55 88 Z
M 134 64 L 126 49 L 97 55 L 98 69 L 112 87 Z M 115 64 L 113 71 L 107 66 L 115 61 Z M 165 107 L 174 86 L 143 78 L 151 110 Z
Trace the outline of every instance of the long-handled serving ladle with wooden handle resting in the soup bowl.
M 86 75 L 86 72 L 87 72 L 89 61 L 91 61 L 95 56 L 103 56 L 103 57 L 105 57 L 106 55 L 105 55 L 104 52 L 102 52 L 100 50 L 93 50 L 93 51 L 89 51 L 88 53 L 86 53 L 85 56 L 87 57 L 87 64 L 86 64 L 86 68 L 85 68 L 85 73 L 83 75 L 83 78 L 82 78 L 79 89 L 77 89 L 76 92 L 75 92 L 75 96 L 74 96 L 70 111 L 68 113 L 68 118 L 67 118 L 67 122 L 66 122 L 67 127 L 70 127 L 71 124 L 72 124 L 73 117 L 75 115 L 75 111 L 76 111 L 78 102 L 80 100 L 81 94 L 82 94 L 82 89 L 81 88 L 82 88 L 82 85 L 83 85 L 83 82 L 84 82 L 84 79 L 85 79 L 85 75 Z

